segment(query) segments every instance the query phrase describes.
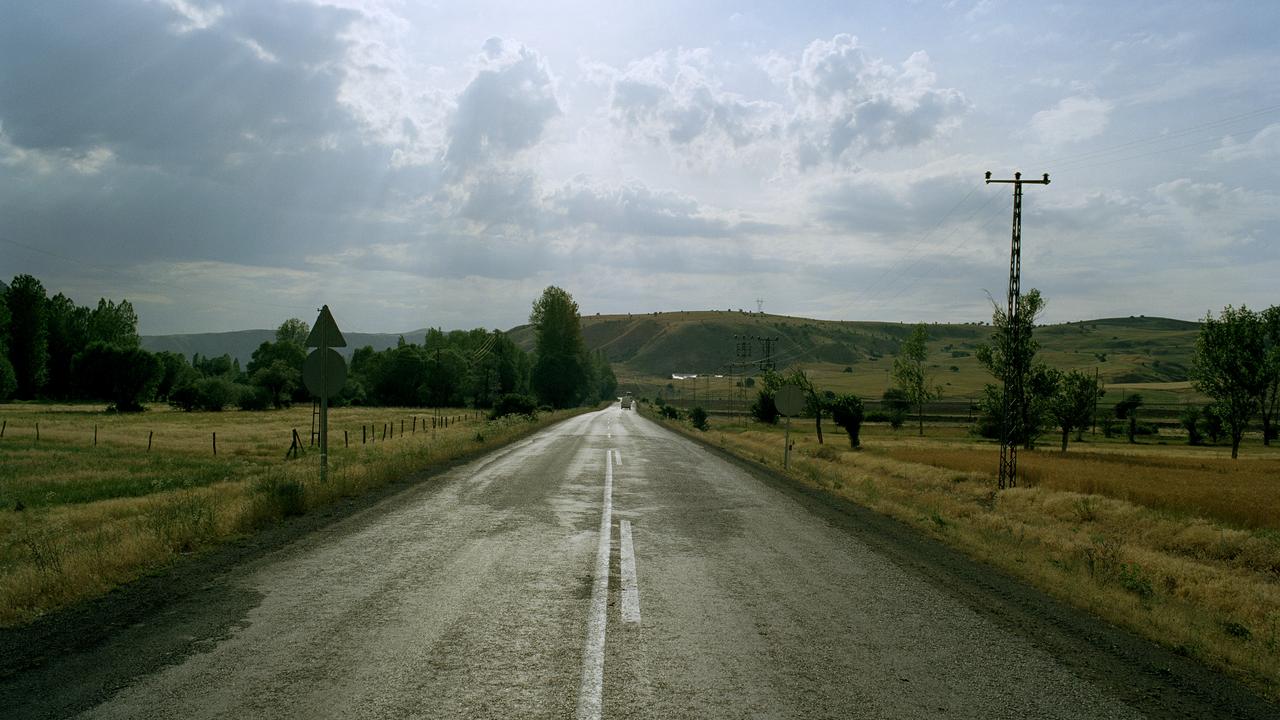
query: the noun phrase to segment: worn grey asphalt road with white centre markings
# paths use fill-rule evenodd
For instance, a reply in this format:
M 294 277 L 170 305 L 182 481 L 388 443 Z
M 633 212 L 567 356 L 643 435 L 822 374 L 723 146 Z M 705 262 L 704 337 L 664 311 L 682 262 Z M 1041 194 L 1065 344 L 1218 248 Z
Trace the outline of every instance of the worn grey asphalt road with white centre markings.
M 1130 682 L 1114 670 L 1124 660 L 1093 666 L 1088 647 L 1053 639 L 1070 629 L 1006 621 L 867 534 L 858 518 L 614 406 L 229 569 L 180 611 L 47 664 L 47 691 L 22 685 L 28 703 L 10 678 L 6 710 L 1183 715 L 1169 712 L 1181 707 L 1176 688 L 1132 692 L 1149 685 L 1142 667 Z M 1194 717 L 1217 701 L 1187 702 Z

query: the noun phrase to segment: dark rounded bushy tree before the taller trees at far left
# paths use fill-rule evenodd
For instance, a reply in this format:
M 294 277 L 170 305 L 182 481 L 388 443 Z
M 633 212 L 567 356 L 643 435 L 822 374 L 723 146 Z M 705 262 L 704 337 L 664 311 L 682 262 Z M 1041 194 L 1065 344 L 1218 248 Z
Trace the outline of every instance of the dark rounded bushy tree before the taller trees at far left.
M 101 341 L 88 343 L 73 363 L 82 392 L 105 400 L 108 410 L 137 413 L 151 400 L 160 380 L 160 360 L 141 347 Z

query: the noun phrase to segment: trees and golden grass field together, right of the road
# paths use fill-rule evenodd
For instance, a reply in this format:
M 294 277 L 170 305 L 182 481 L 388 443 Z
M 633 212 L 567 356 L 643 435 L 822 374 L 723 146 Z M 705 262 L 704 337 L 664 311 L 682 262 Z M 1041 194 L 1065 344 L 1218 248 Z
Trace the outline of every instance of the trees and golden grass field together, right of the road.
M 904 340 L 893 396 L 884 393 L 874 418 L 856 395 L 788 375 L 826 398 L 808 414 L 827 413 L 849 446 L 794 424 L 783 469 L 783 433 L 760 411 L 783 382 L 774 373 L 764 374 L 749 415 L 713 418 L 705 429 L 668 425 L 908 523 L 1280 700 L 1280 455 L 1270 447 L 1280 310 L 1226 307 L 1204 319 L 1189 372 L 1207 402 L 1184 406 L 1170 432 L 1139 419 L 1140 393 L 1100 404 L 1096 375 L 1052 368 L 1034 338 L 1039 293 L 1023 307 L 1020 318 L 996 307 L 993 332 L 974 354 L 995 382 L 964 425 L 924 423 L 924 325 Z M 1006 398 L 1004 380 L 1018 373 L 1012 387 L 1023 395 Z M 916 437 L 900 432 L 908 409 L 919 418 Z M 1261 428 L 1251 432 L 1256 416 Z M 1055 434 L 1059 442 L 1038 448 Z M 992 438 L 1001 437 L 1023 448 L 1007 488 L 996 478 Z

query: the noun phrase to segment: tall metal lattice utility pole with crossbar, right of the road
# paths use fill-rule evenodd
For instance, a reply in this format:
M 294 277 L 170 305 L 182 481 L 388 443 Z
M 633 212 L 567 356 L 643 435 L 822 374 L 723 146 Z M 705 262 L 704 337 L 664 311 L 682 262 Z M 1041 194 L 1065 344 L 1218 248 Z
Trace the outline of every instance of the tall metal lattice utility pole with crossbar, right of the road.
M 1014 433 L 1014 418 L 1021 419 L 1025 415 L 1027 396 L 1025 383 L 1028 368 L 1023 368 L 1023 359 L 1018 355 L 1020 338 L 1018 333 L 1021 327 L 1021 318 L 1018 315 L 1021 300 L 1021 274 L 1023 274 L 1023 184 L 1048 184 L 1048 173 L 1043 179 L 1024 181 L 1021 173 L 1014 173 L 1014 179 L 991 179 L 991 170 L 987 170 L 987 184 L 1009 183 L 1014 186 L 1014 237 L 1009 251 L 1009 331 L 1010 347 L 1014 350 L 1012 357 L 1005 359 L 1005 415 L 1000 421 L 1000 487 L 1015 487 L 1018 484 L 1018 438 Z M 1012 361 L 1010 364 L 1010 360 Z

